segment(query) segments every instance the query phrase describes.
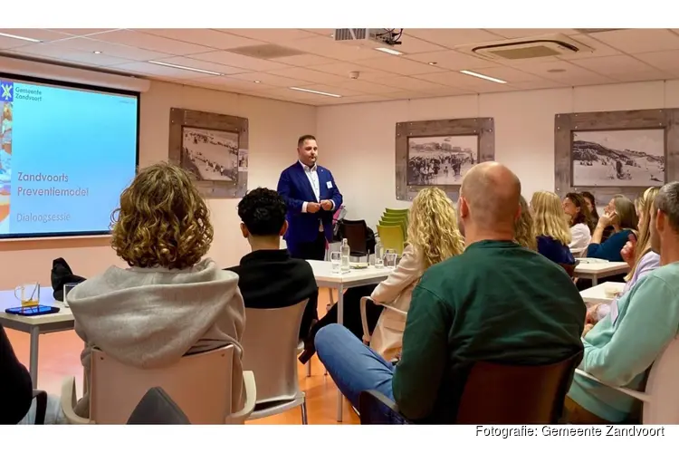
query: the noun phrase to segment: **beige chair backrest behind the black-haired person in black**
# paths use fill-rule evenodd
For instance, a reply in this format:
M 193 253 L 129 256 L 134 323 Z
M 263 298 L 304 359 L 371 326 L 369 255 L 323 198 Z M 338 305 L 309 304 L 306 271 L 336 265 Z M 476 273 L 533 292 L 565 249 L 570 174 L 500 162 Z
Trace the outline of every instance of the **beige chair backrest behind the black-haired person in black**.
M 292 400 L 300 393 L 297 346 L 309 299 L 282 308 L 246 308 L 243 369 L 253 371 L 257 402 Z

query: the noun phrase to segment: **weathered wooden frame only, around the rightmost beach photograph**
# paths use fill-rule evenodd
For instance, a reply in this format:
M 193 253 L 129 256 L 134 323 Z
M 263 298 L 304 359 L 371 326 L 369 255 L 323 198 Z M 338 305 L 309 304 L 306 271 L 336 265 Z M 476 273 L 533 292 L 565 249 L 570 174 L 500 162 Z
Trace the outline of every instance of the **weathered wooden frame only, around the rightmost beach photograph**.
M 614 195 L 634 200 L 647 187 L 578 186 L 573 184 L 571 152 L 573 132 L 607 130 L 665 130 L 665 180 L 679 179 L 679 109 L 643 111 L 592 111 L 557 114 L 554 119 L 554 186 L 559 197 L 587 190 L 598 206 L 607 205 Z

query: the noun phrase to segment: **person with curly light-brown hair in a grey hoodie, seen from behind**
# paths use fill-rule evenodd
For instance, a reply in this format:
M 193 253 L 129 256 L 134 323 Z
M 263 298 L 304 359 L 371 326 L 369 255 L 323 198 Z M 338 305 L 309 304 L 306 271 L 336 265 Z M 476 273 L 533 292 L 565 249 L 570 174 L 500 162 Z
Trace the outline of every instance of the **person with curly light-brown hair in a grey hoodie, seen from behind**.
M 243 297 L 238 275 L 205 257 L 213 226 L 189 174 L 167 163 L 141 169 L 112 217 L 111 246 L 130 267 L 111 266 L 69 293 L 75 332 L 85 342 L 85 389 L 93 348 L 148 369 L 234 344 L 232 410 L 241 410 Z M 87 390 L 75 413 L 89 417 Z

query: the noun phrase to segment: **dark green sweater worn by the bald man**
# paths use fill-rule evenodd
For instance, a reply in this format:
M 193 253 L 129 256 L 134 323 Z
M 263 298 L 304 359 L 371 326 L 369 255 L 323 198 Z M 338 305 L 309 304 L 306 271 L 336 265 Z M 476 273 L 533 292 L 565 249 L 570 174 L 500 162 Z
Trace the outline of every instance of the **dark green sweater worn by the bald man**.
M 545 364 L 582 351 L 585 304 L 569 275 L 509 241 L 430 267 L 413 292 L 392 388 L 412 420 L 453 423 L 473 361 Z

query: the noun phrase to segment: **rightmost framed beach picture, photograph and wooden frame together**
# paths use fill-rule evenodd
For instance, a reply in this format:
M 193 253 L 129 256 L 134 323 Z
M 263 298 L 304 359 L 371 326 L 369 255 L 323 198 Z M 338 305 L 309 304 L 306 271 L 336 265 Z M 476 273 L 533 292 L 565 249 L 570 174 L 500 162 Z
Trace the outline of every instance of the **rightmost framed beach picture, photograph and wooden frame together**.
M 563 198 L 569 192 L 588 191 L 598 206 L 605 206 L 617 194 L 634 200 L 646 188 L 676 180 L 677 121 L 679 109 L 555 115 L 556 193 Z

